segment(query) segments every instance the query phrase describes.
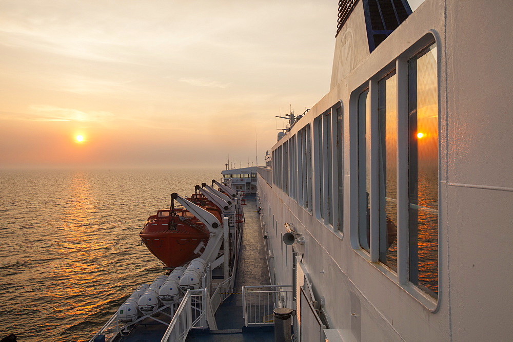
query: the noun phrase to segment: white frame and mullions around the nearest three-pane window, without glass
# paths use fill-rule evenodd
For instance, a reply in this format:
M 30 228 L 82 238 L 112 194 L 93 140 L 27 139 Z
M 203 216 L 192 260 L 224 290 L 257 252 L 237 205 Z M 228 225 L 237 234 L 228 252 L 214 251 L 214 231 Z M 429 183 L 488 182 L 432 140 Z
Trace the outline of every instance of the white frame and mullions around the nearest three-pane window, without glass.
M 407 291 L 411 296 L 413 296 L 419 303 L 425 306 L 429 311 L 436 312 L 439 308 L 441 297 L 441 293 L 443 289 L 440 287 L 440 279 L 443 274 L 440 272 L 440 264 L 438 265 L 438 297 L 431 296 L 428 292 L 424 291 L 418 285 L 413 284 L 409 281 L 409 210 L 404 209 L 409 207 L 409 173 L 408 173 L 408 165 L 409 165 L 409 154 L 408 154 L 408 132 L 409 132 L 409 100 L 408 100 L 408 62 L 412 58 L 416 58 L 419 54 L 421 54 L 425 49 L 430 46 L 435 45 L 437 47 L 437 102 L 438 102 L 438 117 L 439 117 L 439 125 L 438 125 L 438 134 L 439 134 L 439 145 L 438 145 L 438 153 L 439 153 L 439 163 L 438 163 L 438 208 L 442 206 L 442 197 L 440 196 L 440 183 L 443 182 L 441 174 L 443 169 L 443 164 L 440 160 L 440 147 L 442 145 L 442 125 L 440 125 L 441 120 L 441 105 L 440 105 L 440 93 L 441 93 L 441 80 L 440 80 L 440 41 L 437 39 L 435 35 L 432 33 L 426 33 L 421 39 L 412 44 L 408 49 L 406 49 L 402 54 L 400 54 L 397 58 L 394 58 L 392 61 L 387 63 L 380 71 L 374 74 L 367 81 L 363 82 L 360 87 L 354 89 L 350 95 L 349 102 L 349 141 L 352 146 L 358 146 L 358 148 L 352 148 L 349 151 L 349 161 L 350 161 L 350 173 L 353 175 L 359 175 L 359 160 L 360 160 L 360 136 L 359 136 L 359 122 L 358 122 L 358 104 L 360 95 L 364 93 L 366 90 L 369 90 L 368 96 L 370 96 L 370 112 L 371 112 L 371 151 L 370 151 L 370 159 L 371 159 L 371 180 L 370 180 L 370 205 L 380 208 L 379 206 L 379 196 L 372 196 L 372 194 L 379 194 L 379 183 L 378 183 L 378 169 L 377 167 L 373 167 L 373 165 L 378 165 L 378 148 L 376 148 L 376 141 L 378 141 L 378 82 L 385 78 L 390 72 L 393 70 L 396 71 L 398 79 L 397 79 L 397 127 L 398 133 L 401 134 L 401 137 L 398 136 L 398 146 L 397 146 L 397 178 L 398 179 L 406 179 L 405 182 L 398 182 L 397 184 L 397 202 L 398 202 L 398 224 L 397 224 L 397 272 L 393 271 L 387 265 L 381 263 L 379 261 L 379 212 L 374 210 L 370 215 L 370 251 L 366 251 L 364 248 L 360 246 L 360 213 L 359 207 L 361 202 L 360 196 L 360 180 L 357 182 L 352 182 L 350 194 L 351 197 L 357 198 L 357 201 L 351 201 L 349 203 L 349 207 L 351 208 L 350 212 L 354 212 L 354 215 L 351 215 L 350 225 L 351 225 L 351 246 L 353 250 L 355 250 L 358 254 L 361 255 L 364 259 L 368 260 L 371 265 L 376 267 L 379 271 L 381 271 L 384 275 L 386 275 L 391 281 L 398 284 L 401 288 Z M 374 115 L 372 115 L 374 113 Z M 360 178 L 360 177 L 359 177 Z M 400 208 L 403 208 L 400 210 Z M 371 209 L 372 211 L 372 209 Z M 443 226 L 443 218 L 441 216 L 438 217 L 438 255 L 437 258 L 440 261 L 440 252 L 441 247 L 440 243 L 442 240 L 440 239 L 440 227 Z

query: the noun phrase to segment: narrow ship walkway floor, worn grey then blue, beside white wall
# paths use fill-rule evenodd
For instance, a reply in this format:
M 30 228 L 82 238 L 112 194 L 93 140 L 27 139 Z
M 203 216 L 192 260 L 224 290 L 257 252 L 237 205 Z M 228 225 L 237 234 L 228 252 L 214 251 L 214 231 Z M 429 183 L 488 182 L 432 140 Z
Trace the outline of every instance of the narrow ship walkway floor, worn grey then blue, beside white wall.
M 273 341 L 273 327 L 244 327 L 242 315 L 242 287 L 251 285 L 270 285 L 263 233 L 257 212 L 255 195 L 246 196 L 244 208 L 245 223 L 243 228 L 239 265 L 235 277 L 234 290 L 215 313 L 218 330 L 191 330 L 187 341 Z M 159 319 L 169 322 L 164 315 Z M 147 324 L 145 324 L 147 323 Z M 160 340 L 167 326 L 155 324 L 151 319 L 135 327 L 129 335 L 120 341 L 146 342 Z

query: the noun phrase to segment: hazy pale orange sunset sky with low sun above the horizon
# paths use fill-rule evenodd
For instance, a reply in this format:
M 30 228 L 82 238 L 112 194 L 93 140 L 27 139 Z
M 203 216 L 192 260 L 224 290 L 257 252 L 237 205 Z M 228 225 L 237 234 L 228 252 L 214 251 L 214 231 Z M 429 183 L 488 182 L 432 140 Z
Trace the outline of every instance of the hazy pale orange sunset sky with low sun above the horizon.
M 0 168 L 262 165 L 275 116 L 329 91 L 337 10 L 2 0 Z

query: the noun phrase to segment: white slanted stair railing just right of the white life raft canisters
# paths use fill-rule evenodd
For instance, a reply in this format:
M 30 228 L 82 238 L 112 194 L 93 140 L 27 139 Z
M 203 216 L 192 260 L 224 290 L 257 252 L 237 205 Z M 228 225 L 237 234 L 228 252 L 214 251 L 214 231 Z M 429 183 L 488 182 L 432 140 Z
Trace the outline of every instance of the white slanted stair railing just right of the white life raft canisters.
M 191 329 L 216 330 L 207 289 L 187 290 L 161 342 L 185 341 Z

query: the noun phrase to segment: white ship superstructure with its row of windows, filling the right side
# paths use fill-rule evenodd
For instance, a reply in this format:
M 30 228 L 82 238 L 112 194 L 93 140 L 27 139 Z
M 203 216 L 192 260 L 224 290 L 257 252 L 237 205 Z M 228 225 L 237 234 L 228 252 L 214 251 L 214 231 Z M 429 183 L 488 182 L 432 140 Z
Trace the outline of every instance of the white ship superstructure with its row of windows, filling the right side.
M 258 169 L 294 338 L 509 339 L 513 6 L 339 10 L 329 93 Z

